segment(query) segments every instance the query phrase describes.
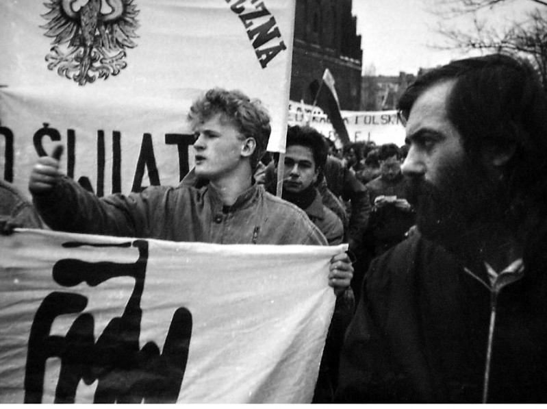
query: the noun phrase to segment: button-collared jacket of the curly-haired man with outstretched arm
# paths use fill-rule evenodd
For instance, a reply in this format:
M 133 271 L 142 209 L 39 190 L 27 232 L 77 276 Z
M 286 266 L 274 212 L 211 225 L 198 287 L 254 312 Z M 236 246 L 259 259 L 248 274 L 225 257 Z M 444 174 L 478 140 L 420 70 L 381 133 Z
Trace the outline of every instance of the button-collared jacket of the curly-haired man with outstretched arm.
M 256 184 L 233 206 L 222 206 L 209 184 L 150 186 L 99 199 L 64 178 L 34 203 L 53 230 L 218 244 L 327 245 L 303 210 Z

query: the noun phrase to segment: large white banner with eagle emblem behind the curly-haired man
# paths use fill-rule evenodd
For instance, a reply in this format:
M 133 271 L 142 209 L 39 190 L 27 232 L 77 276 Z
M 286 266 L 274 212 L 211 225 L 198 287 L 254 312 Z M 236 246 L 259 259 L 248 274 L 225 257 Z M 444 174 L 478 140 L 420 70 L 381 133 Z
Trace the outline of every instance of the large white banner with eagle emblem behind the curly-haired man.
M 99 196 L 174 185 L 194 165 L 190 104 L 260 99 L 283 146 L 295 0 L 0 1 L 0 177 L 38 156 Z M 189 154 L 190 151 L 190 154 Z

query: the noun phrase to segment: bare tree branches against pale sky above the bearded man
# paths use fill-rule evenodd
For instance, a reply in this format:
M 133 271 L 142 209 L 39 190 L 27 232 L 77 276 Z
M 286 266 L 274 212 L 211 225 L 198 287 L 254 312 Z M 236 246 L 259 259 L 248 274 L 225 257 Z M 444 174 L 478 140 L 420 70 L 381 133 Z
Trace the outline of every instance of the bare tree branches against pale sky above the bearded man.
M 444 0 L 437 3 L 435 14 L 445 22 L 467 15 L 473 23 L 471 31 L 440 25 L 437 32 L 448 42 L 437 48 L 495 51 L 526 58 L 537 69 L 547 90 L 547 0 L 525 1 L 535 5 L 526 18 L 523 21 L 508 21 L 501 27 L 489 23 L 485 12 L 491 13 L 502 4 L 512 3 L 511 0 Z

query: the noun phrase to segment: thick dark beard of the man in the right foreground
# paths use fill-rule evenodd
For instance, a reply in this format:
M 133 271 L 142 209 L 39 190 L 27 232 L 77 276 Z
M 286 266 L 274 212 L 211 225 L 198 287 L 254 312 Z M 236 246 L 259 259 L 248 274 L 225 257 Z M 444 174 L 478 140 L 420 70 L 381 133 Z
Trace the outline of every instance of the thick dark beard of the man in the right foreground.
M 420 233 L 449 250 L 459 251 L 472 244 L 479 231 L 509 222 L 509 199 L 502 182 L 467 157 L 440 169 L 435 185 L 412 180 L 409 201 L 417 203 Z

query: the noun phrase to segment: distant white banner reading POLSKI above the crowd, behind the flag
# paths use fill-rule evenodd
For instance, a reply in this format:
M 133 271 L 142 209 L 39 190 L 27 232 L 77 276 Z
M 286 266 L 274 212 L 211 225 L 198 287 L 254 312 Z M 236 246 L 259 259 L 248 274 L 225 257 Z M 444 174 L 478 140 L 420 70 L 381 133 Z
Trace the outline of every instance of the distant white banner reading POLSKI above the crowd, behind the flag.
M 321 108 L 315 107 L 313 114 L 311 105 L 290 101 L 289 125 L 305 125 L 309 121 L 311 127 L 316 128 L 327 138 L 335 141 L 338 147 L 341 143 L 333 129 L 327 115 Z M 390 111 L 342 111 L 342 119 L 346 124 L 351 142 L 372 141 L 376 145 L 394 143 L 397 146 L 405 145 L 405 127 L 397 117 L 396 110 Z

